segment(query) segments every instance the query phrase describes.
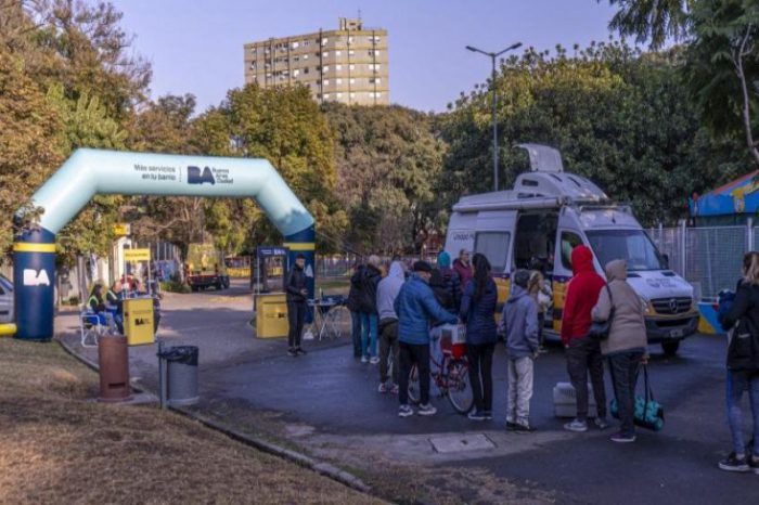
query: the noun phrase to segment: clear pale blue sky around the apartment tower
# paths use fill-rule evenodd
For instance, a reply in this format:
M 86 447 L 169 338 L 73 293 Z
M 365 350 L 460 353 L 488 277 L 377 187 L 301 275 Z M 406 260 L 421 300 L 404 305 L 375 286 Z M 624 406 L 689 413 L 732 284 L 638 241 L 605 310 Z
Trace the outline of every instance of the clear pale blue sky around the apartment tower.
M 388 30 L 390 101 L 445 111 L 483 82 L 486 56 L 513 42 L 553 49 L 606 40 L 613 10 L 603 0 L 114 0 L 134 50 L 153 65 L 152 94 L 193 93 L 198 111 L 243 86 L 243 44 L 319 28 L 340 16 Z M 524 49 L 524 48 L 523 48 Z M 519 50 L 522 51 L 522 50 Z

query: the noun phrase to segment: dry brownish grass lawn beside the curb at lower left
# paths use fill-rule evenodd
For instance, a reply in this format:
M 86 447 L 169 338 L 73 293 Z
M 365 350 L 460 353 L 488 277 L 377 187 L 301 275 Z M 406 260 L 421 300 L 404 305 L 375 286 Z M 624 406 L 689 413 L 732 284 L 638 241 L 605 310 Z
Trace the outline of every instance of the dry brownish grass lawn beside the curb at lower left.
M 57 344 L 0 338 L 0 503 L 381 503 L 155 406 L 88 401 Z

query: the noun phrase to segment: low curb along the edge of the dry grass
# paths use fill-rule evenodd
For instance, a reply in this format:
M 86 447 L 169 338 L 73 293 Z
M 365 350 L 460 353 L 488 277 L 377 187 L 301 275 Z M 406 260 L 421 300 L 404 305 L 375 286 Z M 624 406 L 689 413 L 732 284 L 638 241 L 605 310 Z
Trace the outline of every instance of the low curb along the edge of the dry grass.
M 89 368 L 99 372 L 100 366 L 98 363 L 89 360 L 88 358 L 85 358 L 83 355 L 80 355 L 72 346 L 63 341 L 62 339 L 54 338 L 54 340 L 63 348 L 64 351 L 66 351 L 68 354 L 72 357 L 76 358 L 79 360 L 81 363 L 83 363 L 86 366 Z M 143 386 L 134 386 L 133 384 L 131 385 L 131 388 L 134 389 L 138 392 L 150 392 L 154 394 L 152 391 L 146 390 Z M 321 462 L 319 459 L 314 459 L 310 456 L 307 456 L 304 453 L 293 451 L 291 449 L 283 448 L 281 445 L 278 445 L 275 443 L 269 442 L 267 440 L 263 440 L 258 437 L 254 437 L 247 433 L 243 433 L 242 431 L 239 431 L 234 428 L 229 428 L 227 426 L 223 426 L 216 420 L 213 420 L 209 417 L 204 416 L 203 414 L 198 414 L 197 412 L 193 412 L 190 409 L 183 407 L 183 406 L 171 406 L 169 405 L 169 409 L 178 414 L 181 414 L 185 417 L 189 417 L 191 419 L 194 419 L 202 425 L 204 425 L 207 428 L 210 428 L 213 430 L 219 431 L 220 433 L 227 436 L 228 438 L 235 440 L 237 442 L 242 442 L 245 445 L 248 445 L 250 448 L 257 449 L 261 452 L 271 454 L 273 456 L 281 457 L 283 459 L 290 461 L 292 463 L 295 463 L 299 466 L 303 466 L 305 468 L 308 468 L 312 471 L 316 471 L 317 474 L 323 475 L 324 477 L 329 477 L 330 479 L 339 482 L 344 485 L 347 485 L 351 489 L 355 489 L 356 491 L 360 491 L 365 494 L 371 494 L 372 492 L 372 487 L 366 484 L 363 480 L 359 479 L 355 475 L 343 470 L 330 463 L 326 462 Z M 377 497 L 377 496 L 374 496 Z

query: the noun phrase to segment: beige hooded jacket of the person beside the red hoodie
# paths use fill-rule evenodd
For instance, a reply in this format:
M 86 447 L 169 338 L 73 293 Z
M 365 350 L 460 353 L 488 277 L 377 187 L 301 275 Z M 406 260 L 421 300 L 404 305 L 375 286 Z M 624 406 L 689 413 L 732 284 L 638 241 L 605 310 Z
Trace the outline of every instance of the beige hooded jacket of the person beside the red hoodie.
M 631 350 L 645 351 L 647 338 L 643 302 L 627 282 L 627 262 L 621 259 L 609 261 L 606 264 L 606 279 L 612 297 L 605 287 L 602 288 L 599 302 L 592 311 L 593 321 L 607 321 L 614 305 L 614 319 L 608 338 L 601 341 L 601 352 L 614 354 Z

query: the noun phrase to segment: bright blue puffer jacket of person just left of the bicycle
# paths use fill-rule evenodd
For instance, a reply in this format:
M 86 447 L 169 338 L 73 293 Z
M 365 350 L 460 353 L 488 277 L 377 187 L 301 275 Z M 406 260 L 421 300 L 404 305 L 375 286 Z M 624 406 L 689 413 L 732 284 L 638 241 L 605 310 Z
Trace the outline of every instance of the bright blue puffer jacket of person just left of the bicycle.
M 398 315 L 398 340 L 406 344 L 429 344 L 430 321 L 450 324 L 458 321 L 440 307 L 430 287 L 416 274 L 400 288 L 394 308 Z

